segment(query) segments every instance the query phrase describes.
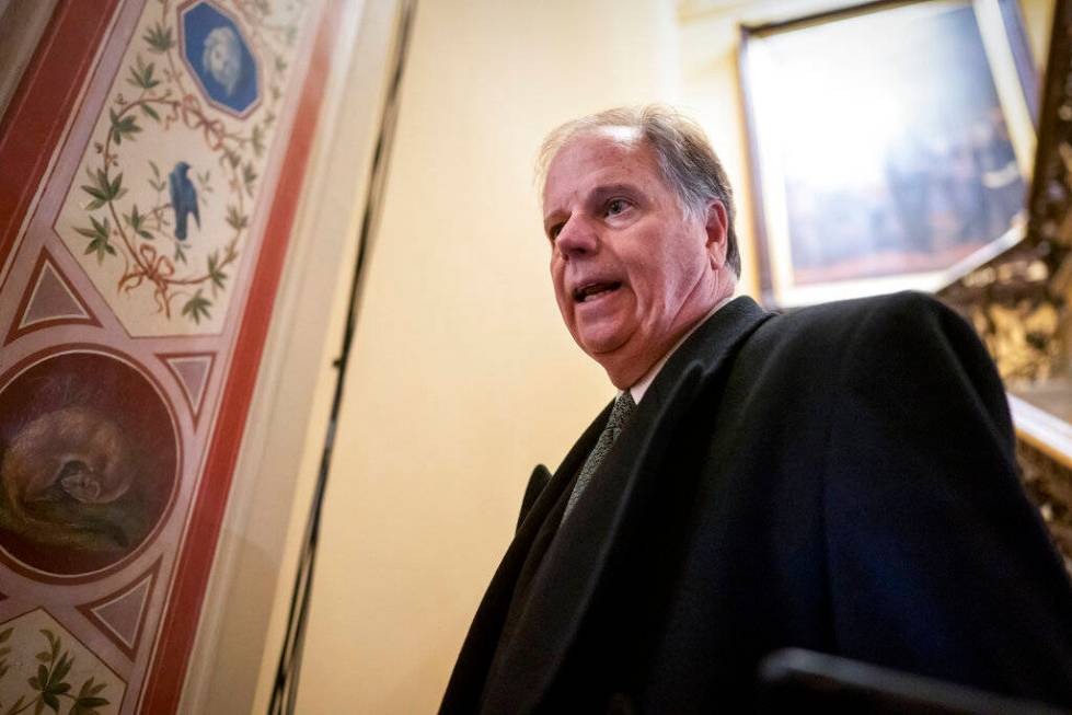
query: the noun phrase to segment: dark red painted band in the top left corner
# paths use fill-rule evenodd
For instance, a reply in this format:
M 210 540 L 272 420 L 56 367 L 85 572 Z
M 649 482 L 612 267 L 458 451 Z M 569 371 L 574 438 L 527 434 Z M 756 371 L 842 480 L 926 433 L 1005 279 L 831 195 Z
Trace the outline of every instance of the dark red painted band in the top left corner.
M 116 4 L 59 0 L 0 119 L 0 266 L 14 246 Z

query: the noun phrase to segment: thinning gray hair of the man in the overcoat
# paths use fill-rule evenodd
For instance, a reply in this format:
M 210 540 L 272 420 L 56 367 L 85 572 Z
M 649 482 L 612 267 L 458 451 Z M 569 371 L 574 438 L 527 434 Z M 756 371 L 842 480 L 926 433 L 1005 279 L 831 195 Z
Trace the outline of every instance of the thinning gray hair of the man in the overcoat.
M 668 106 L 615 107 L 567 122 L 554 129 L 540 147 L 537 163 L 540 185 L 543 185 L 552 160 L 563 147 L 578 136 L 603 127 L 632 128 L 647 140 L 655 151 L 662 180 L 678 195 L 687 214 L 702 219 L 712 200 L 725 207 L 728 223 L 726 264 L 739 277 L 740 251 L 734 230 L 734 191 L 726 177 L 726 170 L 700 125 Z

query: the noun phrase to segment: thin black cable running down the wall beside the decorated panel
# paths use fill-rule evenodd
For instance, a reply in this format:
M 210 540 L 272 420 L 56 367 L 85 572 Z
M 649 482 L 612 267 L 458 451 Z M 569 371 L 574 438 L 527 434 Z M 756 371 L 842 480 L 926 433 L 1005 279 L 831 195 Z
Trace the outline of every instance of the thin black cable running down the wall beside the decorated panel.
M 279 654 L 279 665 L 272 688 L 272 701 L 268 704 L 268 715 L 292 715 L 298 696 L 298 678 L 301 671 L 301 656 L 306 642 L 306 624 L 309 619 L 309 602 L 312 593 L 313 569 L 316 564 L 316 546 L 320 542 L 320 520 L 324 506 L 324 493 L 327 477 L 331 474 L 332 450 L 335 446 L 335 433 L 338 425 L 338 413 L 343 402 L 343 387 L 346 382 L 346 369 L 349 365 L 350 348 L 354 341 L 354 328 L 357 321 L 357 302 L 361 293 L 365 278 L 366 258 L 378 227 L 379 211 L 382 203 L 383 186 L 387 181 L 387 170 L 394 141 L 394 128 L 399 116 L 399 93 L 402 85 L 402 74 L 405 68 L 406 54 L 410 45 L 410 33 L 416 12 L 416 0 L 400 0 L 397 34 L 394 55 L 391 65 L 391 78 L 387 96 L 383 101 L 383 114 L 380 118 L 380 132 L 372 154 L 369 188 L 365 203 L 365 215 L 361 219 L 358 235 L 357 261 L 350 278 L 349 302 L 346 313 L 346 327 L 343 332 L 343 343 L 338 358 L 333 366 L 338 370 L 335 381 L 335 392 L 332 399 L 331 416 L 327 420 L 327 434 L 324 436 L 324 448 L 320 458 L 320 471 L 309 517 L 298 556 L 298 572 L 295 576 L 293 591 L 290 598 L 290 610 L 287 614 L 287 635 Z

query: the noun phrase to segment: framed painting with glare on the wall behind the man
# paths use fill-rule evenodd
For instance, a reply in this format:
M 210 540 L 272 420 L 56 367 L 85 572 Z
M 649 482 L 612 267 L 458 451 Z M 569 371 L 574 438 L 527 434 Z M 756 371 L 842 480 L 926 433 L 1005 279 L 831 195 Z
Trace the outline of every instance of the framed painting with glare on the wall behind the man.
M 936 290 L 1023 237 L 1036 81 L 1015 0 L 742 26 L 739 67 L 766 302 Z

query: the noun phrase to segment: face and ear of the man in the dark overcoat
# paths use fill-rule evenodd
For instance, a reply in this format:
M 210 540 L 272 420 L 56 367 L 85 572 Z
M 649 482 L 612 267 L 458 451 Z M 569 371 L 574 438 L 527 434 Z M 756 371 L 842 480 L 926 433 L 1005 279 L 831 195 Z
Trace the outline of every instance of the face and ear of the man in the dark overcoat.
M 543 208 L 562 318 L 616 387 L 643 377 L 721 298 L 725 211 L 715 205 L 721 234 L 717 221 L 687 218 L 630 131 L 581 135 L 560 150 Z

